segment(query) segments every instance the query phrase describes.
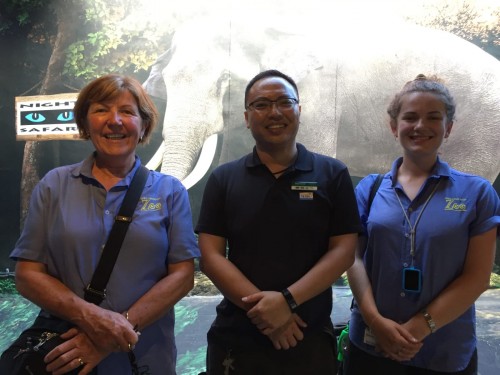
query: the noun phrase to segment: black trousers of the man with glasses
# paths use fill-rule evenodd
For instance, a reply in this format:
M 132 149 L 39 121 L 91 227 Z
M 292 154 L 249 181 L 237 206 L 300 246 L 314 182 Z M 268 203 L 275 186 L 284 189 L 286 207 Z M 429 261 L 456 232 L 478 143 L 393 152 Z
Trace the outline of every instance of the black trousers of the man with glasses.
M 296 347 L 287 350 L 276 350 L 262 338 L 229 332 L 221 335 L 213 328 L 207 339 L 208 375 L 337 374 L 333 327 L 308 332 Z

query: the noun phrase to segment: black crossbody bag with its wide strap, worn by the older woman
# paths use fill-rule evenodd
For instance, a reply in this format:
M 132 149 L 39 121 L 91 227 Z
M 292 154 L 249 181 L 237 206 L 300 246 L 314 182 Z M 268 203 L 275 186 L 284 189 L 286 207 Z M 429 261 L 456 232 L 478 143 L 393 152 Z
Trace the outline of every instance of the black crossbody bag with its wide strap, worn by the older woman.
M 113 271 L 116 259 L 120 252 L 125 233 L 132 221 L 144 185 L 149 175 L 149 170 L 140 166 L 130 187 L 125 194 L 120 211 L 115 217 L 115 222 L 109 233 L 101 258 L 97 265 L 92 280 L 85 288 L 86 301 L 99 305 L 106 298 L 106 285 Z M 0 358 L 0 374 L 5 375 L 50 375 L 45 370 L 47 364 L 43 358 L 56 346 L 65 340 L 60 334 L 69 330 L 73 325 L 55 316 L 38 316 L 33 325 L 23 331 L 14 343 L 7 348 Z M 130 365 L 134 375 L 139 374 L 135 356 L 129 352 Z M 69 372 L 76 375 L 80 368 Z M 95 374 L 94 369 L 91 374 Z

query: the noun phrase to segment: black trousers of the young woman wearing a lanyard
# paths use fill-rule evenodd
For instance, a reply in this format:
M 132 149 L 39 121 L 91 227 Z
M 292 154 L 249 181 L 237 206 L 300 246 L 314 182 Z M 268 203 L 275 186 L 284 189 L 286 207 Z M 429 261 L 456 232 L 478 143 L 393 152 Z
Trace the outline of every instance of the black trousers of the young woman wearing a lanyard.
M 388 358 L 375 357 L 359 349 L 352 342 L 344 357 L 343 375 L 477 375 L 477 349 L 467 367 L 458 372 L 439 372 L 403 365 Z

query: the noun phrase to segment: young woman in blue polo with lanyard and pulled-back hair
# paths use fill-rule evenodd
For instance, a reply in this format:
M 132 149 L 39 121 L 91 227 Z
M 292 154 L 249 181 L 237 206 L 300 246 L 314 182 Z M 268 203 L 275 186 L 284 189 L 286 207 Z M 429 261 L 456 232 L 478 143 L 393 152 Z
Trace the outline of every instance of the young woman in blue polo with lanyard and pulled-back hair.
M 474 301 L 489 285 L 498 195 L 439 158 L 455 103 L 437 78 L 406 83 L 388 113 L 403 156 L 371 207 L 375 175 L 356 187 L 365 233 L 348 271 L 355 303 L 345 373 L 476 374 Z

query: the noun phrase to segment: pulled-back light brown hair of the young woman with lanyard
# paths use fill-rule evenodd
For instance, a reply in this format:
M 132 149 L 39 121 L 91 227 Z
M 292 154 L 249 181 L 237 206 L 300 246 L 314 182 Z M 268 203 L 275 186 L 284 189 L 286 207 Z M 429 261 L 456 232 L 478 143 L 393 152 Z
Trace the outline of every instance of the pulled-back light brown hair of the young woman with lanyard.
M 436 76 L 426 77 L 423 74 L 419 74 L 413 81 L 406 82 L 401 91 L 394 96 L 391 104 L 389 104 L 387 113 L 391 117 L 391 121 L 396 121 L 401 111 L 401 98 L 412 92 L 431 92 L 438 95 L 445 105 L 448 121 L 454 120 L 456 109 L 455 100 L 443 81 Z

